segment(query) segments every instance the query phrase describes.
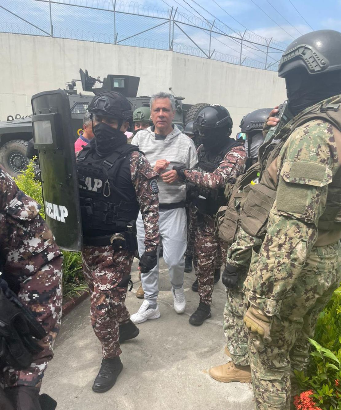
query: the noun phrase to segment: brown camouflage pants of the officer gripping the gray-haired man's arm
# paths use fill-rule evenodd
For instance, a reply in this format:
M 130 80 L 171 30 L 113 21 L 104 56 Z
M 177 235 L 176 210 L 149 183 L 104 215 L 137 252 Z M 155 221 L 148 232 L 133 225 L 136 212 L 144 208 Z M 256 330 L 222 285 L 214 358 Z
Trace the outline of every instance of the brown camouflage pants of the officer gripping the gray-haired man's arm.
M 198 257 L 196 275 L 200 301 L 211 305 L 214 287 L 214 271 L 219 260 L 219 252 L 226 261 L 224 251 L 214 235 L 214 219 L 208 215 L 200 215 L 195 238 L 195 253 Z M 221 266 L 221 263 L 220 265 Z

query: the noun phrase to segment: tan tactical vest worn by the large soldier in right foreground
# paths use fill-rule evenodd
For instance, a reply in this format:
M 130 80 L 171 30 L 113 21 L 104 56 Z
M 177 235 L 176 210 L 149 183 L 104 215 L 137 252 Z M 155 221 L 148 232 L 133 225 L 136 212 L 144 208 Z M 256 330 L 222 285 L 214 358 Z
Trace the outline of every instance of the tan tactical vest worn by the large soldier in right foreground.
M 341 131 L 341 96 L 334 96 L 327 100 L 309 107 L 301 114 L 289 121 L 277 135 L 263 144 L 259 150 L 261 183 L 252 185 L 241 210 L 240 224 L 245 232 L 253 237 L 263 237 L 266 233 L 266 225 L 272 205 L 276 198 L 276 180 L 270 177 L 268 168 L 278 157 L 284 143 L 296 128 L 305 123 L 322 119 L 332 124 Z M 279 140 L 275 146 L 273 141 Z M 339 170 L 340 171 L 340 170 Z M 340 230 L 341 228 L 341 179 L 334 176 L 328 185 L 327 203 L 325 212 L 318 221 L 320 230 Z

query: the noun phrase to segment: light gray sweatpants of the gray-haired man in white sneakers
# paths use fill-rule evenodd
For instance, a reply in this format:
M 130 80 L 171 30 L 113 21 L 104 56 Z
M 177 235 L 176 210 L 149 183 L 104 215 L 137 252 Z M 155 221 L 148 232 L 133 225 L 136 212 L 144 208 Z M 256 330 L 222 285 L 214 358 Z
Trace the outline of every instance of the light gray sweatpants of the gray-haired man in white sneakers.
M 137 243 L 139 254 L 144 252 L 144 225 L 141 212 L 137 217 Z M 160 210 L 159 212 L 160 239 L 163 246 L 163 259 L 167 264 L 169 279 L 174 289 L 183 286 L 185 268 L 184 255 L 187 246 L 187 218 L 185 208 Z M 151 271 L 141 273 L 144 298 L 156 303 L 159 293 L 159 256 L 158 263 Z

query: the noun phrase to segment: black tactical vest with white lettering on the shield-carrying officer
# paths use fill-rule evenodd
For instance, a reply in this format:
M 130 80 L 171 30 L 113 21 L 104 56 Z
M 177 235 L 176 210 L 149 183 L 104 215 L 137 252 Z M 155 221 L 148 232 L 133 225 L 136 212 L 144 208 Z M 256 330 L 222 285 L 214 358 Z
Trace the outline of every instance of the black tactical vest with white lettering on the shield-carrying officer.
M 88 238 L 123 232 L 137 219 L 139 204 L 131 181 L 129 153 L 135 145 L 123 144 L 108 157 L 98 158 L 92 147 L 77 157 L 80 209 L 84 243 Z

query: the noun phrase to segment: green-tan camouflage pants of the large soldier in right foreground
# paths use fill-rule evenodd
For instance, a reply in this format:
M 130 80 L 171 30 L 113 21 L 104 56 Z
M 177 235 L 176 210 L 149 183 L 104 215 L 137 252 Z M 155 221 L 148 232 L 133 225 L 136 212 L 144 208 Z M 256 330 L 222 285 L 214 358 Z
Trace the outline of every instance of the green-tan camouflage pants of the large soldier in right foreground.
M 252 258 L 248 280 L 257 258 Z M 341 245 L 313 248 L 300 277 L 272 319 L 270 337 L 249 333 L 249 360 L 256 409 L 288 410 L 297 394 L 294 370 L 309 364 L 308 337 L 314 337 L 318 315 L 341 281 Z

